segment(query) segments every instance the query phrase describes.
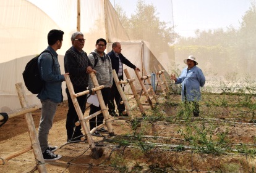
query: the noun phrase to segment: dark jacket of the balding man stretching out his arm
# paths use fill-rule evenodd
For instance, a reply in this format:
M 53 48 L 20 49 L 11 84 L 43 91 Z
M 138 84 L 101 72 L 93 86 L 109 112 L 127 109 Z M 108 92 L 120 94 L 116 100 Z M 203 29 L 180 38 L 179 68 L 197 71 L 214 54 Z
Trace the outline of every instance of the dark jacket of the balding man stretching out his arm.
M 108 55 L 111 59 L 111 63 L 112 63 L 112 69 L 116 70 L 116 74 L 118 73 L 119 70 L 119 60 L 118 57 L 116 57 L 116 55 L 114 54 L 114 51 L 111 50 L 111 52 L 108 52 Z M 124 63 L 125 65 L 129 66 L 132 69 L 135 69 L 136 66 L 134 64 L 132 64 L 129 60 L 127 60 L 126 57 L 124 57 L 124 55 L 119 54 L 119 58 L 121 60 L 122 63 Z M 124 66 L 123 66 L 124 68 Z M 124 73 L 122 73 L 121 79 L 124 79 Z

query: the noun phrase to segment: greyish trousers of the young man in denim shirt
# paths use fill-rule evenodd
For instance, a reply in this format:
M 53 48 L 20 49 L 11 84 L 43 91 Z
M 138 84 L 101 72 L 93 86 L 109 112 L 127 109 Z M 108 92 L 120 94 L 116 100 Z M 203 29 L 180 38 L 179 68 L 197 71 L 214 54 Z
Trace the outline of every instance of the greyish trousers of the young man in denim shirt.
M 38 128 L 38 140 L 42 153 L 48 148 L 49 129 L 53 126 L 53 118 L 56 113 L 58 103 L 51 100 L 41 100 L 41 119 Z

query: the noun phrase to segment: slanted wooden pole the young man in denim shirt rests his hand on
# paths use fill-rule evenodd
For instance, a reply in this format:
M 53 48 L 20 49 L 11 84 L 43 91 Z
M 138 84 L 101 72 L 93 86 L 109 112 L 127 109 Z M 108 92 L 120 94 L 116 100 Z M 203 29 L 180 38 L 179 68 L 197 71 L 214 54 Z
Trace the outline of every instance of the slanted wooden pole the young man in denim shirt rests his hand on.
M 79 103 L 77 102 L 77 98 L 74 97 L 74 95 L 75 95 L 74 87 L 72 85 L 72 82 L 70 81 L 69 76 L 65 76 L 65 80 L 66 80 L 67 88 L 69 89 L 70 97 L 71 97 L 72 102 L 75 107 L 75 111 L 77 111 L 77 116 L 81 120 L 81 119 L 83 119 L 83 113 L 79 106 Z M 96 150 L 95 143 L 93 142 L 92 135 L 90 134 L 88 124 L 85 121 L 81 121 L 81 122 L 82 122 L 81 126 L 83 129 L 83 132 L 85 132 L 85 134 L 87 135 L 87 141 L 90 145 L 90 148 L 92 151 L 92 156 L 93 156 L 93 158 L 98 159 L 98 158 L 100 158 L 100 156 L 98 155 L 98 151 Z

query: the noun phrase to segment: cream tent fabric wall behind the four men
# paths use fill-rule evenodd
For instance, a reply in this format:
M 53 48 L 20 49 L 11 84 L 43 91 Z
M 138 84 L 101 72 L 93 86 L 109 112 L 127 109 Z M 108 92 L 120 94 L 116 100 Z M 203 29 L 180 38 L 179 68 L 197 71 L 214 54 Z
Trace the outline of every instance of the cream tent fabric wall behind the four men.
M 41 6 L 42 2 L 48 6 Z M 0 1 L 2 12 L 0 17 L 0 111 L 2 112 L 20 108 L 15 84 L 23 82 L 22 71 L 27 62 L 48 46 L 49 30 L 64 31 L 62 47 L 57 51 L 62 73 L 64 73 L 63 57 L 71 46 L 70 36 L 77 30 L 77 1 L 44 0 L 34 3 L 26 0 Z M 106 38 L 109 42 L 106 52 L 111 50 L 112 42 L 119 41 L 122 44 L 122 54 L 134 65 L 141 69 L 144 66 L 147 70 L 150 46 L 144 41 L 130 41 L 109 0 L 81 1 L 80 14 L 80 31 L 87 39 L 83 50 L 87 54 L 95 49 L 98 38 Z M 165 60 L 163 64 L 167 65 L 168 62 Z M 135 78 L 134 72 L 127 69 L 133 75 L 132 78 Z M 25 85 L 23 86 L 28 97 L 28 105 L 41 105 L 36 95 L 31 94 Z M 64 99 L 66 99 L 65 88 L 66 83 L 62 82 Z

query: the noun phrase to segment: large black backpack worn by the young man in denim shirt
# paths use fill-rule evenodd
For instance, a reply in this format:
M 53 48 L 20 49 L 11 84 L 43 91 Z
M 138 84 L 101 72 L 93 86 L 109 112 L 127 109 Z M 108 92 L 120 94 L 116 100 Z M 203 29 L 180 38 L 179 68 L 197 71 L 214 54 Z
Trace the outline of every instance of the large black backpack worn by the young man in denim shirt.
M 41 54 L 49 52 L 49 50 L 44 50 L 41 52 Z M 40 54 L 40 55 L 41 55 Z M 41 90 L 43 89 L 44 81 L 41 79 L 40 72 L 38 69 L 38 58 L 40 55 L 37 55 L 35 58 L 32 58 L 30 60 L 26 67 L 25 70 L 22 73 L 25 86 L 27 87 L 28 91 L 32 92 L 33 94 L 39 94 Z M 53 58 L 53 55 L 51 54 L 51 57 Z M 53 64 L 54 64 L 54 58 L 53 58 Z

